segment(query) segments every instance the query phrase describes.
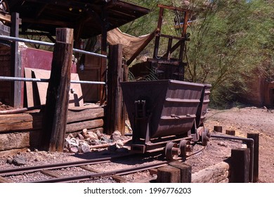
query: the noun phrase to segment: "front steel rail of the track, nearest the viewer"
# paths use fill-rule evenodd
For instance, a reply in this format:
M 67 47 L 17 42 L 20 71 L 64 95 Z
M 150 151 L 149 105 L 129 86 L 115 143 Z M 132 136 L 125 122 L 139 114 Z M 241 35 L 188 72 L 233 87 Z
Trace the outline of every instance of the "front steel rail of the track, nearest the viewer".
M 145 170 L 149 170 L 149 169 L 155 168 L 155 167 L 162 167 L 164 165 L 167 165 L 168 163 L 169 163 L 169 161 L 163 161 L 161 163 L 143 165 L 143 166 L 139 166 L 139 167 L 130 167 L 130 168 L 124 168 L 124 169 L 120 169 L 120 170 L 111 170 L 111 171 L 107 171 L 107 172 L 84 174 L 84 175 L 73 176 L 73 177 L 45 179 L 45 180 L 40 180 L 37 182 L 29 182 L 29 183 L 67 183 L 67 182 L 76 182 L 76 181 L 78 181 L 78 182 L 86 181 L 89 179 L 95 179 L 95 178 L 99 178 L 99 177 L 112 177 L 114 175 L 120 176 L 120 175 L 145 171 Z

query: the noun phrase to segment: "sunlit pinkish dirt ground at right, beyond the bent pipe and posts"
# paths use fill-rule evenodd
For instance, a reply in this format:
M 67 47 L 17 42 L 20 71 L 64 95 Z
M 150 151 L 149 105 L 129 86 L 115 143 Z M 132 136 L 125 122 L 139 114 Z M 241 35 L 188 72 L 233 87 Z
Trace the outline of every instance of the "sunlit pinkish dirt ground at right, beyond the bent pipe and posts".
M 205 127 L 222 126 L 234 129 L 236 136 L 247 137 L 248 132 L 259 132 L 259 182 L 274 182 L 274 110 L 242 107 L 229 110 L 209 109 Z

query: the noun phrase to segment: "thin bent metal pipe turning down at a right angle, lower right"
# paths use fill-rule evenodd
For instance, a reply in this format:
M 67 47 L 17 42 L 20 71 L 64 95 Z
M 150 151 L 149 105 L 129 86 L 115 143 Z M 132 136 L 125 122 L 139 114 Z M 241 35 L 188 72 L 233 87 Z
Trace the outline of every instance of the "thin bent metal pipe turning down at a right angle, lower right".
M 250 168 L 251 168 L 251 178 L 250 182 L 253 182 L 253 173 L 254 173 L 254 139 L 252 138 L 244 138 L 244 137 L 239 137 L 239 136 L 218 136 L 211 134 L 210 137 L 215 137 L 215 138 L 221 138 L 221 139 L 235 139 L 235 140 L 241 140 L 241 141 L 247 141 L 250 143 Z

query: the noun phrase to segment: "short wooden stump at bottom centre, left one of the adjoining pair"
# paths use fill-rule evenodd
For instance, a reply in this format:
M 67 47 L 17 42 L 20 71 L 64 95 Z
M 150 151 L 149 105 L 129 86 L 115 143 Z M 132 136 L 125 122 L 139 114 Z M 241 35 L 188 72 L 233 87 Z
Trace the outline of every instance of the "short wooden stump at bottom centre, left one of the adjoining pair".
M 177 167 L 167 165 L 157 170 L 157 183 L 179 183 L 180 180 L 181 170 Z

